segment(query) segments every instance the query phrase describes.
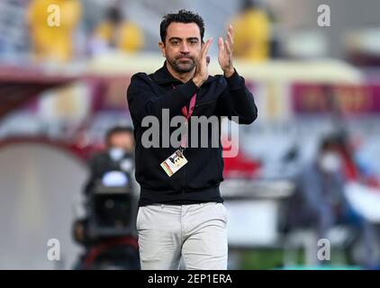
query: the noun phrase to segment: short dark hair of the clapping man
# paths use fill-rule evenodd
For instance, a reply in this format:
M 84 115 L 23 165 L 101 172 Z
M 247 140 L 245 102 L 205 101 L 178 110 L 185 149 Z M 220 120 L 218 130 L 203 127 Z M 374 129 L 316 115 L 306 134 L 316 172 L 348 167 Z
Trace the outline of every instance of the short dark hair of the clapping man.
M 199 14 L 195 14 L 192 11 L 182 9 L 176 14 L 166 14 L 162 17 L 161 24 L 159 25 L 159 34 L 161 41 L 165 43 L 167 38 L 167 27 L 170 23 L 195 23 L 201 31 L 201 40 L 204 41 L 204 19 Z

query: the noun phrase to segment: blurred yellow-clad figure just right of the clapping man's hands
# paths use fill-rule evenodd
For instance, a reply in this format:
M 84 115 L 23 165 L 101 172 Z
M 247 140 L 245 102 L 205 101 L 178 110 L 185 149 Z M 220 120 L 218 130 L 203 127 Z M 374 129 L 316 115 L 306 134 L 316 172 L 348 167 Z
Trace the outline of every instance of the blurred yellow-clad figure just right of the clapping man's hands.
M 233 54 L 237 58 L 264 61 L 270 55 L 270 19 L 254 2 L 232 21 L 235 31 Z

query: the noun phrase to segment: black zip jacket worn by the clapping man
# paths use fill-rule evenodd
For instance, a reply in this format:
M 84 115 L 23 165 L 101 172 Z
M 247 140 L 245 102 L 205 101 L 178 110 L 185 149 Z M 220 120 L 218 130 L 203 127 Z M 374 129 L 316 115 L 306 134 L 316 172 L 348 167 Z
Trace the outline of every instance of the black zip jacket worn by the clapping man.
M 230 77 L 209 76 L 204 84 L 198 88 L 193 80 L 182 83 L 167 70 L 166 63 L 155 73 L 137 73 L 131 77 L 127 99 L 131 119 L 134 126 L 136 140 L 135 165 L 136 180 L 140 184 L 140 206 L 152 203 L 192 204 L 200 202 L 222 202 L 219 184 L 222 182 L 223 159 L 220 138 L 219 146 L 212 147 L 213 134 L 220 135 L 221 126 L 207 126 L 208 145 L 201 146 L 201 137 L 198 137 L 197 148 L 192 143 L 192 121 L 188 123 L 188 148 L 184 155 L 188 163 L 169 177 L 160 164 L 176 152 L 176 147 L 165 145 L 169 135 L 178 129 L 169 127 L 169 135 L 163 133 L 167 128 L 168 119 L 183 115 L 182 107 L 188 105 L 192 96 L 196 94 L 193 116 L 217 116 L 221 119 L 226 116 L 238 116 L 240 124 L 250 124 L 258 117 L 253 95 L 245 85 L 244 78 L 238 73 Z M 167 109 L 167 110 L 165 110 Z M 142 145 L 144 132 L 152 131 L 141 125 L 146 116 L 155 116 L 159 121 L 159 129 L 155 130 L 159 136 L 159 145 L 145 148 Z M 146 120 L 146 118 L 145 118 Z M 162 125 L 162 123 L 164 125 Z M 165 127 L 163 127 L 165 126 Z M 174 126 L 174 125 L 169 125 Z M 198 125 L 198 135 L 201 135 Z M 145 136 L 147 135 L 145 134 Z M 150 139 L 153 139 L 152 136 Z M 158 147 L 156 147 L 158 146 Z M 167 147 L 168 146 L 168 147 Z

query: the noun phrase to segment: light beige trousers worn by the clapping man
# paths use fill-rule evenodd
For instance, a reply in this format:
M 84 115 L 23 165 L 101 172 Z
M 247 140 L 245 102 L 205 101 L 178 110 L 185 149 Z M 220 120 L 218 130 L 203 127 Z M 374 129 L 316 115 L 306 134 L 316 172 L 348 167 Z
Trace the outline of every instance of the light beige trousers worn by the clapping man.
M 222 203 L 141 206 L 136 228 L 142 270 L 227 269 L 227 211 Z

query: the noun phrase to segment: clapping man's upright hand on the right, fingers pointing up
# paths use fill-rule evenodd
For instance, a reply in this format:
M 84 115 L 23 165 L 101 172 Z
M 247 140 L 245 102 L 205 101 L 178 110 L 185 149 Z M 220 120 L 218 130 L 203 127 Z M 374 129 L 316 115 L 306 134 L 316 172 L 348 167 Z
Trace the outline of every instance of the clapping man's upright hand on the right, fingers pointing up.
M 222 67 L 224 76 L 232 76 L 235 69 L 232 65 L 232 47 L 233 47 L 233 28 L 232 25 L 229 25 L 227 32 L 227 40 L 223 40 L 222 37 L 218 40 L 219 46 L 219 65 Z

